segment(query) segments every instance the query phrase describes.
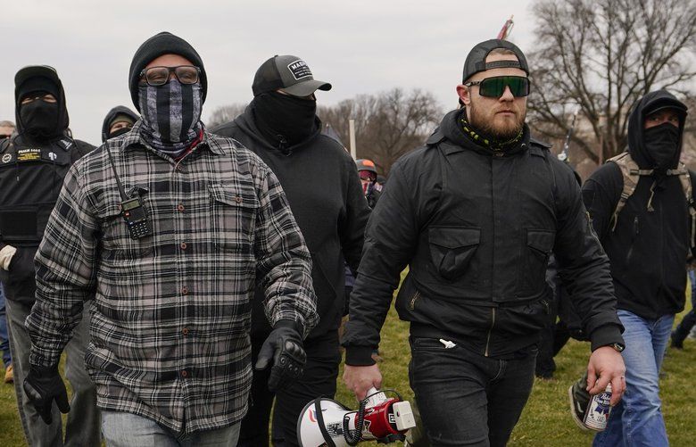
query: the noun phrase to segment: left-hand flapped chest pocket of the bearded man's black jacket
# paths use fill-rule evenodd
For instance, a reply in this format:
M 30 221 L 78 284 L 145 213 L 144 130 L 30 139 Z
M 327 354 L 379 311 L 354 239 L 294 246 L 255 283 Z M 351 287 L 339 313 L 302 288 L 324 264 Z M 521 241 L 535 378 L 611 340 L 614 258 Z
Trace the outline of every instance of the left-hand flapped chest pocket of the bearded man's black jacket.
M 480 228 L 429 228 L 428 242 L 431 261 L 441 277 L 453 281 L 466 274 L 470 283 L 476 283 L 471 260 L 481 242 Z

